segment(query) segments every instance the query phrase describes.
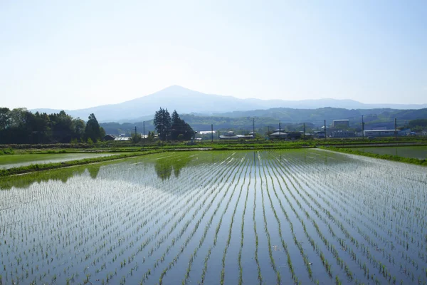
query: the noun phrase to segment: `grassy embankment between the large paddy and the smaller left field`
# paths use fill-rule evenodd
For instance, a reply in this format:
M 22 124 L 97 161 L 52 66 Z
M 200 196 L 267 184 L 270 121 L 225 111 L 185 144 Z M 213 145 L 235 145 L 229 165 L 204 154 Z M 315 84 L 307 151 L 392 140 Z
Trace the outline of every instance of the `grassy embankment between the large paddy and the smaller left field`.
M 108 160 L 119 160 L 127 157 L 136 157 L 140 155 L 149 155 L 152 153 L 162 152 L 162 150 L 150 150 L 145 152 L 132 152 L 126 153 L 122 155 L 110 155 L 110 156 L 102 156 L 102 157 L 93 157 L 93 158 L 85 158 L 83 160 L 69 160 L 65 162 L 54 162 L 54 163 L 46 163 L 46 164 L 35 164 L 35 165 L 26 165 L 21 167 L 12 167 L 5 170 L 0 170 L 0 177 L 8 176 L 8 175 L 17 175 L 27 172 L 36 172 L 42 170 L 52 170 L 61 167 L 70 167 L 74 165 L 85 165 L 88 163 L 94 162 L 104 162 Z

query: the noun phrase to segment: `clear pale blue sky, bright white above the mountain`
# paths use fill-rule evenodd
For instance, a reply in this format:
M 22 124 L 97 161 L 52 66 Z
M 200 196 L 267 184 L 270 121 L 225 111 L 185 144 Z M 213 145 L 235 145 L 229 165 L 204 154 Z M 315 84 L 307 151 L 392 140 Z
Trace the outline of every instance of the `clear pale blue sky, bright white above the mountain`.
M 75 110 L 178 85 L 427 103 L 427 1 L 0 1 L 0 106 Z

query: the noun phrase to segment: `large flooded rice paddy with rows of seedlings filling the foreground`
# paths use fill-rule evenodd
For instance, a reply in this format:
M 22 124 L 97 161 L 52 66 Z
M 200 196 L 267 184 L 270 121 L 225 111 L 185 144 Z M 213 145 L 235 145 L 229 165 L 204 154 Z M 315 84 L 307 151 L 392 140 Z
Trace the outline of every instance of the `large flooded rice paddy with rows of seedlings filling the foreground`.
M 269 150 L 75 169 L 0 182 L 1 284 L 427 283 L 425 167 Z

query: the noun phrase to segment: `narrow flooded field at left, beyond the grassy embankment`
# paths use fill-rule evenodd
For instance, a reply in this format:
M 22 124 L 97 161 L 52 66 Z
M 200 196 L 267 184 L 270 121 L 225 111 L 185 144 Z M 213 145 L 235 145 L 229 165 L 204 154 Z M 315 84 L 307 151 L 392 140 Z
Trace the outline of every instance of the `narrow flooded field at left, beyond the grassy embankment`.
M 0 155 L 0 169 L 43 164 L 51 162 L 65 162 L 82 160 L 85 158 L 116 155 L 117 153 L 56 153 L 56 154 L 28 154 L 28 155 Z

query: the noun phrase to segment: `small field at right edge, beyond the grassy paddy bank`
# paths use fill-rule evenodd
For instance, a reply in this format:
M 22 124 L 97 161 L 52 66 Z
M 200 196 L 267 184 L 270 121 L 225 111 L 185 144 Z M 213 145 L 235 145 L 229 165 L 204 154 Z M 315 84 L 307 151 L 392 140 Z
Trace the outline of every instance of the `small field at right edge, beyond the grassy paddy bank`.
M 427 159 L 427 146 L 406 147 L 354 147 L 353 150 L 371 152 L 377 155 L 396 155 L 408 158 Z

